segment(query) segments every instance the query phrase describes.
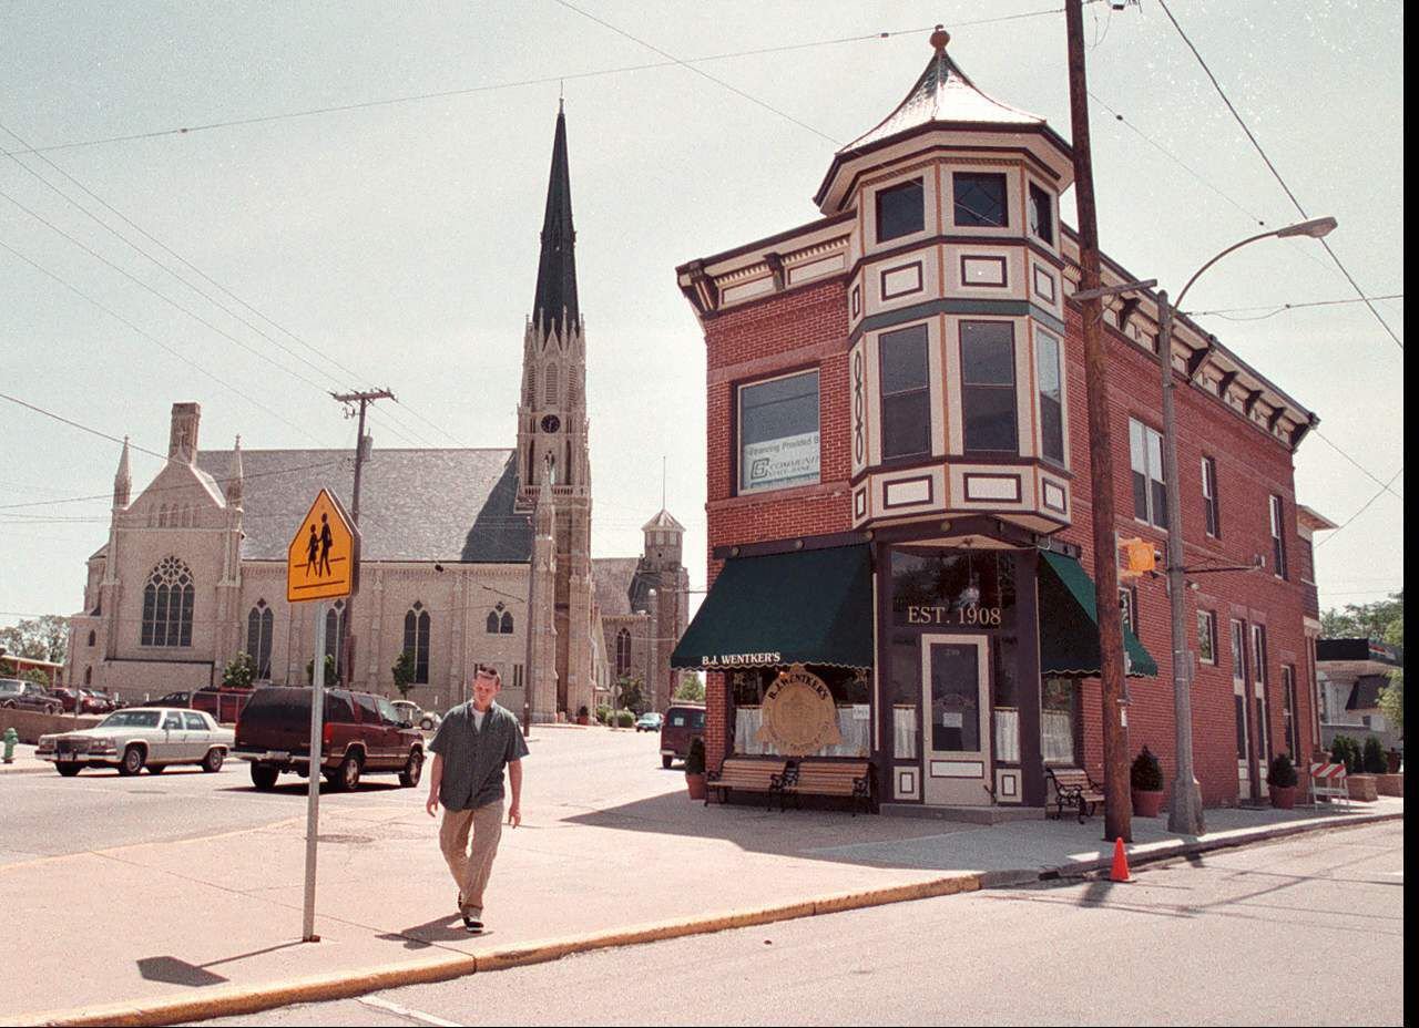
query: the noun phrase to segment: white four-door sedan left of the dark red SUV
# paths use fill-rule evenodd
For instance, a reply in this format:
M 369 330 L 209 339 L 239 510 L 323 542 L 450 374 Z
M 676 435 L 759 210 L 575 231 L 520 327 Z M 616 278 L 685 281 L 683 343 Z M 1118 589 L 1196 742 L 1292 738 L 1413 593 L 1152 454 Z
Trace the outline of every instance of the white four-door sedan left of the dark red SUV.
M 53 761 L 65 778 L 85 767 L 116 767 L 119 774 L 146 767 L 162 774 L 175 764 L 200 764 L 214 773 L 231 742 L 231 729 L 199 710 L 135 708 L 115 710 L 91 729 L 40 736 L 34 756 Z

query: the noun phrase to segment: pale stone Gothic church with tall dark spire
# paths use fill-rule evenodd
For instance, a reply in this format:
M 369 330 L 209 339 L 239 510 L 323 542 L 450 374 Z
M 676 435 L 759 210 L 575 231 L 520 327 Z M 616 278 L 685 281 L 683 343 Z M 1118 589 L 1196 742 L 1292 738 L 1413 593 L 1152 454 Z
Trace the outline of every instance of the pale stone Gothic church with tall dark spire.
M 627 618 L 641 639 L 683 631 L 683 527 L 661 510 L 640 557 L 590 556 L 575 241 L 559 111 L 517 445 L 375 449 L 366 437 L 360 591 L 328 604 L 324 625 L 314 604 L 285 600 L 287 546 L 318 489 L 355 506 L 355 451 L 243 449 L 240 437 L 231 449 L 203 449 L 200 407 L 177 403 L 167 461 L 135 496 L 125 442 L 108 542 L 88 560 L 84 608 L 71 618 L 67 681 L 160 696 L 220 685 L 227 662 L 247 652 L 258 682 L 304 685 L 319 631 L 353 689 L 396 695 L 393 665 L 410 654 L 410 699 L 424 708 L 467 699 L 475 665 L 490 664 L 502 675 L 499 702 L 519 715 L 526 705 L 536 722 L 592 710 L 610 695 L 613 665 L 640 674 L 663 709 L 668 689 L 661 698 L 650 683 L 668 682 L 670 647 L 643 648 L 631 664 L 616 664 L 614 647 Z M 619 574 L 627 562 L 644 573 Z

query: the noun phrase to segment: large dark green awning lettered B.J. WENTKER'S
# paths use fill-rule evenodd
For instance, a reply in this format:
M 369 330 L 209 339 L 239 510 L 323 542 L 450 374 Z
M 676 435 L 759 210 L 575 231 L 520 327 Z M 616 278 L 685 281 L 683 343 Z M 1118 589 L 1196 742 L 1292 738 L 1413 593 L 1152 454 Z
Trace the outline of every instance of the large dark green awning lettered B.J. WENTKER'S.
M 873 666 L 867 546 L 731 557 L 670 657 L 673 668 Z

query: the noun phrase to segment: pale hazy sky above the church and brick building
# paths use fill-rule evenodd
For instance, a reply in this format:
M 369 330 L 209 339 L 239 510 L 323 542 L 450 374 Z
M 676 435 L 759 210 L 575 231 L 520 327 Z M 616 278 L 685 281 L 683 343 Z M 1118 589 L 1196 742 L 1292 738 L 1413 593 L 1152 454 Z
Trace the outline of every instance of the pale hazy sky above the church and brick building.
M 1340 220 L 1355 281 L 1399 295 L 1375 306 L 1402 340 L 1402 4 L 1169 7 L 1307 214 Z M 1300 220 L 1156 0 L 1084 17 L 1110 257 L 1176 295 Z M 175 401 L 201 404 L 207 448 L 349 447 L 328 391 L 387 386 L 377 448 L 511 447 L 565 94 L 593 553 L 639 553 L 664 486 L 702 588 L 704 340 L 674 268 L 817 217 L 834 149 L 897 105 L 938 21 L 978 86 L 1069 138 L 1059 0 L 11 0 L 0 393 L 165 452 Z M 1286 309 L 1354 296 L 1287 240 L 1186 303 L 1321 417 L 1296 488 L 1344 525 L 1323 605 L 1403 581 L 1402 347 L 1361 303 Z M 0 624 L 79 607 L 118 455 L 0 400 Z M 135 495 L 159 465 L 135 452 Z

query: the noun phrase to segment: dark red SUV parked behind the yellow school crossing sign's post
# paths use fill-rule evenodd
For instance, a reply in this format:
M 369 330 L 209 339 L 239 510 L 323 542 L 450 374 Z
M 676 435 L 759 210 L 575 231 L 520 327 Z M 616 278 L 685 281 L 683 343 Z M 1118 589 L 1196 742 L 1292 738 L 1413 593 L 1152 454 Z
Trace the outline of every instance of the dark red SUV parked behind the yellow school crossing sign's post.
M 257 689 L 237 720 L 233 753 L 251 763 L 251 784 L 274 788 L 282 771 L 309 774 L 311 689 Z M 383 696 L 326 689 L 319 767 L 333 788 L 348 790 L 369 773 L 399 774 L 417 786 L 424 737 Z

